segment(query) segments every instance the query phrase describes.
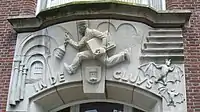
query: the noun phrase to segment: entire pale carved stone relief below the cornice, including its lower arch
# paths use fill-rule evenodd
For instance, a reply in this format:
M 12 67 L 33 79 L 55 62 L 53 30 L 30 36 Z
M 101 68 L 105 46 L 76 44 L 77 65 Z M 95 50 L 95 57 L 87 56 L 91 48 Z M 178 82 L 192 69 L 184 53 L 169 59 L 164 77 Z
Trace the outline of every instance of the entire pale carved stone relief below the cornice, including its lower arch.
M 81 27 L 84 22 L 88 26 Z M 81 32 L 80 28 L 85 30 Z M 68 103 L 101 99 L 150 112 L 183 112 L 184 64 L 173 58 L 173 53 L 183 55 L 181 36 L 180 29 L 155 29 L 113 19 L 71 21 L 19 33 L 7 110 L 42 112 Z M 179 41 L 171 43 L 176 38 Z M 96 39 L 105 45 L 99 45 L 105 52 L 95 54 Z M 112 49 L 107 49 L 109 42 L 114 45 Z M 152 54 L 155 57 L 150 57 Z M 158 59 L 160 54 L 167 60 Z M 141 58 L 144 55 L 149 60 Z M 13 94 L 15 91 L 19 94 Z

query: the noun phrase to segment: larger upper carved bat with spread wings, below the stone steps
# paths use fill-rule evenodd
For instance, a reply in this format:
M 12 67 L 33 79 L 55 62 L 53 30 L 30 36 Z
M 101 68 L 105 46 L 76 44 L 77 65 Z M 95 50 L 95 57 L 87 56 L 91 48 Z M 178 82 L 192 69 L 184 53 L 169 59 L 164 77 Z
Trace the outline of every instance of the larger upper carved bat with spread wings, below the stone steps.
M 181 77 L 183 76 L 183 72 L 178 66 L 171 66 L 170 59 L 166 59 L 165 64 L 162 65 L 157 65 L 153 62 L 144 64 L 139 67 L 139 70 L 142 71 L 145 77 L 144 80 L 152 80 L 154 78 L 155 83 L 160 83 L 164 86 L 169 82 L 181 82 Z

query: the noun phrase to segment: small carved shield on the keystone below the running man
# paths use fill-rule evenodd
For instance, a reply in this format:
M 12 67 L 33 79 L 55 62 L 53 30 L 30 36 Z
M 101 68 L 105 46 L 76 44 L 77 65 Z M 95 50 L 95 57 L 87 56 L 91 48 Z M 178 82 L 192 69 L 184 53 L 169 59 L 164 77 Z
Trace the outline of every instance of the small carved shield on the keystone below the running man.
M 88 83 L 95 84 L 101 80 L 101 67 L 100 66 L 91 66 L 86 67 L 85 78 Z

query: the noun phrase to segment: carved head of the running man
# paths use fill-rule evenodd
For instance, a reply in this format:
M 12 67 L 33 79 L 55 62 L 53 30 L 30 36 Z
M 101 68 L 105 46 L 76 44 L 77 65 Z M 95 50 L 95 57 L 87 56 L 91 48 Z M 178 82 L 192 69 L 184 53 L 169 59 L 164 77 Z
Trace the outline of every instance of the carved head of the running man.
M 85 36 L 85 31 L 86 31 L 86 28 L 88 27 L 87 21 L 85 20 L 79 21 L 77 22 L 77 26 L 78 26 L 78 31 L 81 34 L 81 36 Z

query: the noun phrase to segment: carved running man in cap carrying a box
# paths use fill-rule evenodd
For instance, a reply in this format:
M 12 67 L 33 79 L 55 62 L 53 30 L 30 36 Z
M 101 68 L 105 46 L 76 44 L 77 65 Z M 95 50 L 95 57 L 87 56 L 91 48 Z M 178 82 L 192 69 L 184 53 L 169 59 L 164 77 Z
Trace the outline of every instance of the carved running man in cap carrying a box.
M 78 50 L 86 46 L 87 50 L 77 53 L 70 65 L 64 63 L 64 67 L 69 74 L 75 73 L 81 62 L 87 59 L 97 59 L 108 67 L 129 60 L 128 50 L 124 50 L 123 52 L 108 57 L 106 51 L 114 48 L 115 45 L 107 42 L 107 32 L 90 29 L 85 21 L 78 23 L 78 29 L 82 36 L 81 40 L 75 42 L 66 33 L 65 44 L 68 43 Z

